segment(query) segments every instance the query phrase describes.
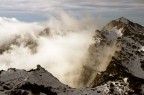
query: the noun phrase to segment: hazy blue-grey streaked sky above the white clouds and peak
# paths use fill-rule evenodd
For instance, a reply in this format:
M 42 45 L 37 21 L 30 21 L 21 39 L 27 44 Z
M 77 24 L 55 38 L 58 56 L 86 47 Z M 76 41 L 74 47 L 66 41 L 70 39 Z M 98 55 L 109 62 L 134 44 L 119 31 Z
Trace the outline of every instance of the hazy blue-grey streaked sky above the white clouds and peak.
M 24 21 L 43 21 L 58 10 L 144 24 L 144 0 L 0 0 L 0 16 Z

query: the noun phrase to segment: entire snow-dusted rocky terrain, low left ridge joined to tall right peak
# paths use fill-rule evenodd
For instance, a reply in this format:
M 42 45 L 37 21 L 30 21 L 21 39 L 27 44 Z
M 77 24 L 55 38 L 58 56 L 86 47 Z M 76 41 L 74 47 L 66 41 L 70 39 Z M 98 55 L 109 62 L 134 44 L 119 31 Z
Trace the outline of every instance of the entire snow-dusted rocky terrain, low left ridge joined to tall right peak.
M 62 84 L 38 65 L 0 71 L 0 95 L 143 95 L 144 27 L 122 17 L 97 30 L 94 40 L 80 78 L 89 88 Z

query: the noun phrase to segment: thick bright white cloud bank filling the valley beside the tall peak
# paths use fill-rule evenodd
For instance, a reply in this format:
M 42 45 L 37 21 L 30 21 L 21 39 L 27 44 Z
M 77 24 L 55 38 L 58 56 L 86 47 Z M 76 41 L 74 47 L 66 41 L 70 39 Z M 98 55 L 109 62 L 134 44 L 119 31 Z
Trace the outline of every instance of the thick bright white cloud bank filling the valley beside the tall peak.
M 98 24 L 97 24 L 98 23 Z M 76 87 L 92 36 L 101 20 L 66 13 L 43 23 L 0 18 L 0 69 L 45 67 L 60 81 Z

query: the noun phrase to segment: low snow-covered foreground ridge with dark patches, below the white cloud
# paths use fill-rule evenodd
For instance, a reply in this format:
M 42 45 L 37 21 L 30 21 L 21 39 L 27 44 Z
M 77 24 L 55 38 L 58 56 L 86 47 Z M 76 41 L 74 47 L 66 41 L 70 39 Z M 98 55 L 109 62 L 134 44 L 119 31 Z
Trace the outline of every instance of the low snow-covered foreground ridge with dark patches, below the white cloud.
M 126 81 L 123 83 L 128 85 Z M 118 91 L 122 89 L 118 84 L 113 86 L 117 88 L 114 92 L 123 93 Z M 111 85 L 112 82 L 107 82 L 95 88 L 71 88 L 62 84 L 40 65 L 30 71 L 10 68 L 0 72 L 0 95 L 106 95 L 111 93 Z M 126 88 L 126 91 L 129 89 Z

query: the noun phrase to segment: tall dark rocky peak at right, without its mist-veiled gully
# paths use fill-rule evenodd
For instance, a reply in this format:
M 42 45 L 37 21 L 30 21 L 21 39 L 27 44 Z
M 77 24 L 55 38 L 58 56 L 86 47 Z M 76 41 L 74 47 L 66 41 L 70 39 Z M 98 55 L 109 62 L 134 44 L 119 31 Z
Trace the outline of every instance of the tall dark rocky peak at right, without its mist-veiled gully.
M 95 48 L 114 45 L 116 49 L 111 51 L 113 55 L 106 71 L 97 75 L 93 86 L 127 78 L 131 93 L 141 94 L 144 85 L 144 27 L 119 18 L 108 23 L 98 33 L 95 38 L 100 41 L 96 42 Z

